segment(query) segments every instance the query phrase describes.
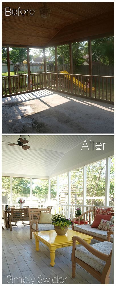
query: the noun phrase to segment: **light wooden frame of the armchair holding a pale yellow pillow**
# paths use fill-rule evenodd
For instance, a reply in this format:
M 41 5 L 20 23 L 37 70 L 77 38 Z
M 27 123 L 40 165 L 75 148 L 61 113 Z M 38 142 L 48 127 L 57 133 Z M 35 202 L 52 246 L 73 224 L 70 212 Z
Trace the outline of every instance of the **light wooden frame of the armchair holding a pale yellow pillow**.
M 38 231 L 38 223 L 40 220 L 41 212 L 51 213 L 51 207 L 48 208 L 29 208 L 29 221 L 30 221 L 30 239 L 32 239 L 32 232 Z M 36 224 L 36 230 L 32 228 L 33 224 Z

